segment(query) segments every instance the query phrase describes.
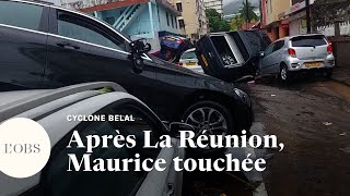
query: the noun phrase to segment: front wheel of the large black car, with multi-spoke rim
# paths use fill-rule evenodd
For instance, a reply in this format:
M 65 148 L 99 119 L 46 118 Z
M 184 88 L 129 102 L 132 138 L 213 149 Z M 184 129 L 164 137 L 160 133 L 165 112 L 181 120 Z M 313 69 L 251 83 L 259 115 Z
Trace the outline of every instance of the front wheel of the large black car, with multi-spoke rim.
M 189 107 L 184 117 L 196 134 L 228 135 L 233 132 L 233 115 L 223 106 L 213 101 L 200 101 Z

